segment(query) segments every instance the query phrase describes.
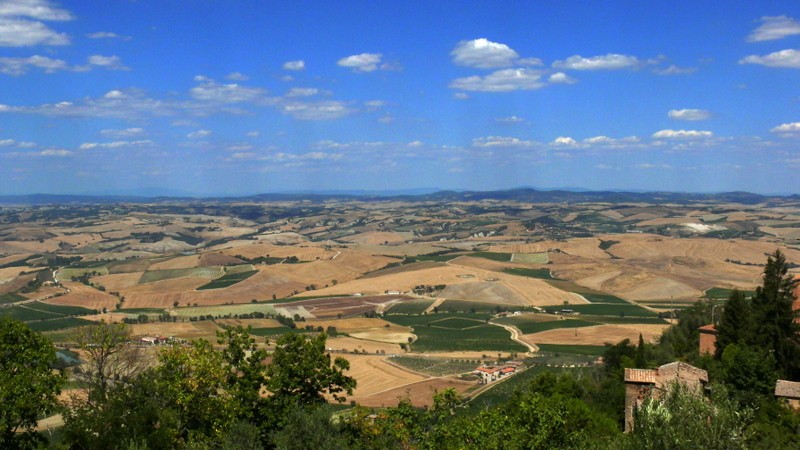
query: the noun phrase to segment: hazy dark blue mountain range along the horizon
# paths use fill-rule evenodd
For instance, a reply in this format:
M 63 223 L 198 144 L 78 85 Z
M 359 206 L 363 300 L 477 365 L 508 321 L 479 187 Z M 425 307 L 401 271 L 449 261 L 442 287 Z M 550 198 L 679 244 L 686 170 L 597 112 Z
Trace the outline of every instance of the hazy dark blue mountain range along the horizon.
M 310 201 L 314 203 L 360 200 L 368 202 L 468 202 L 480 200 L 508 200 L 527 203 L 739 203 L 754 205 L 769 201 L 800 201 L 800 195 L 761 195 L 749 192 L 722 192 L 715 194 L 696 194 L 679 192 L 625 192 L 625 191 L 578 191 L 578 190 L 537 190 L 530 188 L 500 191 L 436 191 L 420 193 L 395 192 L 307 192 L 272 193 L 235 197 L 189 197 L 189 196 L 129 196 L 129 195 L 58 195 L 31 194 L 0 196 L 3 205 L 84 205 L 112 203 L 237 203 L 237 202 L 279 202 Z

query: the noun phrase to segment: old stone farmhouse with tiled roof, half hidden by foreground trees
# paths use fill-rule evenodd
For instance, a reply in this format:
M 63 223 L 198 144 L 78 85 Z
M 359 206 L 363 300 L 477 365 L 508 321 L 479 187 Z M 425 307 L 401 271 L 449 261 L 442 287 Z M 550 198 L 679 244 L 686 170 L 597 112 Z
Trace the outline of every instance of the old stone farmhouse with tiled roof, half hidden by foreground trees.
M 699 395 L 708 383 L 708 372 L 680 361 L 658 369 L 625 369 L 626 433 L 633 431 L 634 409 L 648 398 L 659 398 L 673 383 L 681 383 Z

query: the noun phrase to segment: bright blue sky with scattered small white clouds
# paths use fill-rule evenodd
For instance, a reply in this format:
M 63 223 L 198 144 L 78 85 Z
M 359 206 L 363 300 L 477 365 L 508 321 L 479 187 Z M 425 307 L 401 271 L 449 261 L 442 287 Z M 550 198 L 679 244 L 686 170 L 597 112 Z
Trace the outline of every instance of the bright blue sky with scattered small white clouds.
M 800 193 L 800 2 L 0 0 L 0 193 Z

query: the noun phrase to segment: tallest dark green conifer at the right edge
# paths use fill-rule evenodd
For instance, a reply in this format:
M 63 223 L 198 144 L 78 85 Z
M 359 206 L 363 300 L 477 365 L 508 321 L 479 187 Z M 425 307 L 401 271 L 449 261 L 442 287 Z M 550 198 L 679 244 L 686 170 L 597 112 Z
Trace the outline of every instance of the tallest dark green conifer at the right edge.
M 754 344 L 773 352 L 782 376 L 800 379 L 800 326 L 794 322 L 794 279 L 780 250 L 767 258 L 764 282 L 753 296 Z

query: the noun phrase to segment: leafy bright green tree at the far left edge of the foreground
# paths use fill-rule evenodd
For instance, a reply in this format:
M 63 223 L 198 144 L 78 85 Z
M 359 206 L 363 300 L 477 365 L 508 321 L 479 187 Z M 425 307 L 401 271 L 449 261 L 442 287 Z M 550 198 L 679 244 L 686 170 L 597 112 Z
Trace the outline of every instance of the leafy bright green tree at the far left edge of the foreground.
M 52 412 L 64 375 L 51 369 L 53 344 L 26 324 L 0 318 L 0 448 L 34 448 L 36 418 Z

